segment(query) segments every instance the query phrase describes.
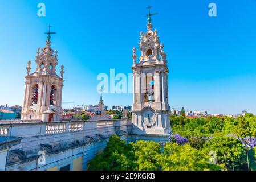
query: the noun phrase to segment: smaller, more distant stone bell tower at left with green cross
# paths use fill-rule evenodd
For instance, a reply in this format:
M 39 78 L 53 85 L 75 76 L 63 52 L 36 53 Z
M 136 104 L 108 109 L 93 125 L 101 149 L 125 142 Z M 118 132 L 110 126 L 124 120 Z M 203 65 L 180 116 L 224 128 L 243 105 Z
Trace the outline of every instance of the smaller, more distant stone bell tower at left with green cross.
M 62 112 L 62 88 L 64 66 L 60 76 L 56 74 L 58 65 L 58 51 L 51 48 L 51 34 L 47 34 L 46 46 L 38 48 L 35 63 L 36 71 L 30 73 L 31 62 L 29 61 L 26 78 L 24 104 L 22 107 L 22 119 L 39 119 L 45 122 L 60 121 Z

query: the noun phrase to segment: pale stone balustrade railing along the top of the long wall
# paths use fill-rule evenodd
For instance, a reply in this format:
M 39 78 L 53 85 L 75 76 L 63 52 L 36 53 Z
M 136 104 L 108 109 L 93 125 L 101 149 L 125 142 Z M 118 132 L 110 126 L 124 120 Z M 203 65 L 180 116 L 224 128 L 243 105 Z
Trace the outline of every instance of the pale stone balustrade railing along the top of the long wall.
M 116 124 L 120 123 L 120 124 Z M 91 133 L 94 129 L 103 131 L 104 128 L 115 128 L 119 125 L 127 128 L 124 120 L 120 121 L 62 121 L 42 122 L 40 120 L 13 120 L 0 121 L 0 136 L 34 137 L 40 135 L 55 135 L 62 133 L 79 132 L 83 130 Z M 121 129 L 121 130 L 125 130 Z

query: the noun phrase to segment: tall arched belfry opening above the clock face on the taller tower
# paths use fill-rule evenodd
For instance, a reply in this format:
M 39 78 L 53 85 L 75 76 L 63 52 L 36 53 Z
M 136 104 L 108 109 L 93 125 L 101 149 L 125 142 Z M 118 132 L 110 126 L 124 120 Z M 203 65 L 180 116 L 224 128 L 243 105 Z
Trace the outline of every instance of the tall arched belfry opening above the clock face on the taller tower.
M 146 83 L 145 83 L 144 102 L 155 102 L 154 77 L 147 76 L 145 79 L 146 79 Z

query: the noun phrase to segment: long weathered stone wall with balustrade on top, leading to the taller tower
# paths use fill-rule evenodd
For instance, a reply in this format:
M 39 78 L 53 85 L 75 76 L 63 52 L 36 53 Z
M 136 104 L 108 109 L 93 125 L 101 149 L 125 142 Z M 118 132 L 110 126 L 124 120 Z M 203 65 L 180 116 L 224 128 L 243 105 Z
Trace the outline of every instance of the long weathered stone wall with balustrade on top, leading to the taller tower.
M 104 150 L 111 135 L 116 134 L 125 139 L 131 130 L 131 119 L 18 123 L 0 121 L 0 136 L 21 138 L 21 142 L 12 146 L 7 155 L 6 170 L 10 171 L 43 171 L 78 156 L 86 164 L 97 152 Z M 46 165 L 38 166 L 36 159 L 39 151 L 47 153 Z

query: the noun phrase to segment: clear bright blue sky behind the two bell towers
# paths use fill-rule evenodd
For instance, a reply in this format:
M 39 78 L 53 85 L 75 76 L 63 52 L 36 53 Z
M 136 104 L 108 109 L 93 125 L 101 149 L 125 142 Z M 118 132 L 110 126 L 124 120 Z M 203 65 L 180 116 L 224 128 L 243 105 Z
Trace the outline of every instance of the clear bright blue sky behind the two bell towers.
M 46 17 L 37 16 L 45 3 Z M 217 17 L 208 5 L 217 5 Z M 64 65 L 63 107 L 97 104 L 96 80 L 109 69 L 128 76 L 132 48 L 147 31 L 146 7 L 168 55 L 169 104 L 209 113 L 256 114 L 256 1 L 1 1 L 0 104 L 22 105 L 27 61 L 32 70 L 48 24 Z M 132 94 L 104 94 L 105 105 L 132 105 Z

